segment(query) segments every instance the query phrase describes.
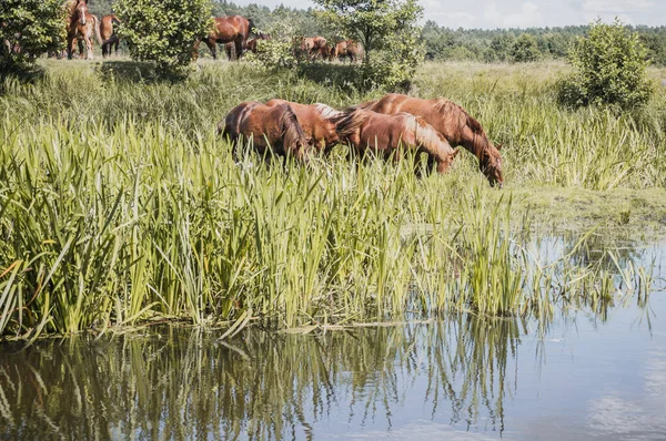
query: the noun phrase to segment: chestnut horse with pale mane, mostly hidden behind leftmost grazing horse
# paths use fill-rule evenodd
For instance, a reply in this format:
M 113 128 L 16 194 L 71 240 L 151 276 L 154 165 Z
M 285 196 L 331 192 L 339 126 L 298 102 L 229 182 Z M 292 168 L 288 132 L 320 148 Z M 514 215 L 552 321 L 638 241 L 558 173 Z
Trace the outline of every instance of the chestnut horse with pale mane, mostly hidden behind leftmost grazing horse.
M 284 100 L 271 100 L 268 106 L 289 104 L 296 114 L 299 124 L 307 136 L 309 144 L 327 155 L 331 150 L 340 142 L 335 123 L 341 120 L 345 113 L 336 111 L 326 104 L 299 104 Z

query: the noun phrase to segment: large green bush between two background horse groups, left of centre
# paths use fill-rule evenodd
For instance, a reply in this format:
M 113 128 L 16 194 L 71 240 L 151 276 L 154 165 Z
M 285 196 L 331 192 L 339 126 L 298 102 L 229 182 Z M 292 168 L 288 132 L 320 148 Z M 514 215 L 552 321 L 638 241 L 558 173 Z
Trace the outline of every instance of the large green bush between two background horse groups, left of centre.
M 154 63 L 160 74 L 184 73 L 212 25 L 210 0 L 118 0 L 114 10 L 132 59 Z

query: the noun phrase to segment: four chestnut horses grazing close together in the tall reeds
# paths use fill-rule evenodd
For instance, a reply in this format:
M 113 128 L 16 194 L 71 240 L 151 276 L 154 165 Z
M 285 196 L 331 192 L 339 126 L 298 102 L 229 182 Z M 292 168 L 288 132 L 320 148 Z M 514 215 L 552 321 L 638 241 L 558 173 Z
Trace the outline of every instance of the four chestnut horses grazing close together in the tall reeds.
M 293 156 L 301 163 L 307 163 L 313 154 L 326 157 L 335 145 L 343 144 L 360 157 L 369 153 L 394 161 L 413 157 L 417 175 L 423 153 L 427 171 L 446 173 L 460 152 L 454 147 L 462 146 L 476 156 L 492 186 L 504 183 L 501 145 L 495 146 L 478 121 L 446 99 L 393 93 L 344 111 L 284 100 L 244 102 L 218 124 L 218 133 L 232 143 L 235 162 L 245 143 L 259 154 Z

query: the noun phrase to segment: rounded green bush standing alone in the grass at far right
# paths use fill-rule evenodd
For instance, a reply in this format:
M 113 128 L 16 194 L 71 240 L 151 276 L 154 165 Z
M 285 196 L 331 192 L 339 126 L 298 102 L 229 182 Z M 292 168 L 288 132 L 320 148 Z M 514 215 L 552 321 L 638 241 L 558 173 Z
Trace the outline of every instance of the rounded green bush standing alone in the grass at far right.
M 569 50 L 575 72 L 561 82 L 559 101 L 572 106 L 645 105 L 653 92 L 645 72 L 646 55 L 637 33 L 618 20 L 613 24 L 597 20 L 587 38 L 578 38 Z

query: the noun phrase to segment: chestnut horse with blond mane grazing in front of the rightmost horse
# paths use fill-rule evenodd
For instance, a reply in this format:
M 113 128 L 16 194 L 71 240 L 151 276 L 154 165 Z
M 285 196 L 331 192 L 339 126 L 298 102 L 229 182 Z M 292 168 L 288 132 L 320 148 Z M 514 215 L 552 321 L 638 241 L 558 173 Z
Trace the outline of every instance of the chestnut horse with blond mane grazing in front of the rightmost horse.
M 427 154 L 428 168 L 437 164 L 437 173 L 447 172 L 458 153 L 422 117 L 408 113 L 385 115 L 356 109 L 339 121 L 337 135 L 361 155 L 375 151 L 402 160 L 405 151 L 412 151 L 416 153 L 416 173 L 420 153 Z

